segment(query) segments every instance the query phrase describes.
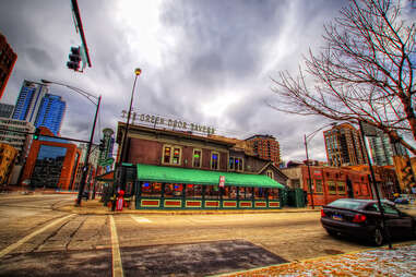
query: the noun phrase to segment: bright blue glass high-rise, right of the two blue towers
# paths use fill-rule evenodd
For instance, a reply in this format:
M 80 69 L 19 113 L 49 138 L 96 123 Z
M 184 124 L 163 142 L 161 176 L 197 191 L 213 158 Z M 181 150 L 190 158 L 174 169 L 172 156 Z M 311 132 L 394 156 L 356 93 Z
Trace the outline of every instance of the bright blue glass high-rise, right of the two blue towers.
M 35 127 L 46 127 L 55 135 L 59 135 L 67 104 L 62 97 L 45 94 L 37 111 Z

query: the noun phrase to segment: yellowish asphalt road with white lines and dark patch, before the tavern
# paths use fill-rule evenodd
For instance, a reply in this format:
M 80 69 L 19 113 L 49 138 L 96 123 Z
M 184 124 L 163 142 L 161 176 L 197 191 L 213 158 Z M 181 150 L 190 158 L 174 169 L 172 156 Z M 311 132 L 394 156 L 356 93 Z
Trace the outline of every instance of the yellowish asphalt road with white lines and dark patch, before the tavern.
M 319 213 L 75 215 L 75 196 L 0 196 L 0 276 L 206 276 L 369 248 Z

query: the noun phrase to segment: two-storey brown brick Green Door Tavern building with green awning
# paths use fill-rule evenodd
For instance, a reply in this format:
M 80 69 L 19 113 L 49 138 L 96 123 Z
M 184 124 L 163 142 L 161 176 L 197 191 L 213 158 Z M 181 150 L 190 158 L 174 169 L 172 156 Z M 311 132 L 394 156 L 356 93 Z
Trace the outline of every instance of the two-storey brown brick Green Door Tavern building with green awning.
M 124 127 L 119 122 L 119 145 Z M 131 125 L 123 161 L 136 176 L 120 182 L 128 193 L 136 188 L 136 208 L 280 208 L 287 177 L 235 142 Z

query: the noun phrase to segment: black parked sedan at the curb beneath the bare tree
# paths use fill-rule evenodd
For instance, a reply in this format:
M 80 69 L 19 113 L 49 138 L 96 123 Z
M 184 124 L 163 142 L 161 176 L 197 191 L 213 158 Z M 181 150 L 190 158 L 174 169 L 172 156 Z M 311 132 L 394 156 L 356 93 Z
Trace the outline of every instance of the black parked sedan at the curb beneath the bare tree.
M 387 201 L 381 202 L 385 226 L 394 238 L 416 238 L 416 218 L 397 209 Z M 369 239 L 376 245 L 384 243 L 382 220 L 376 200 L 336 200 L 321 209 L 321 224 L 331 236 L 346 234 Z

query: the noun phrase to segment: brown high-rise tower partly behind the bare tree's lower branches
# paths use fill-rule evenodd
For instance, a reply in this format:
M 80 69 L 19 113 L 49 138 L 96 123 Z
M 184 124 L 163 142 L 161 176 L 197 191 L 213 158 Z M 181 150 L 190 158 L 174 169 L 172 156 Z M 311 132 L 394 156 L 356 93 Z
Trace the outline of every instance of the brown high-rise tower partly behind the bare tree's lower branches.
M 349 123 L 323 132 L 328 164 L 333 167 L 367 164 L 359 131 Z

